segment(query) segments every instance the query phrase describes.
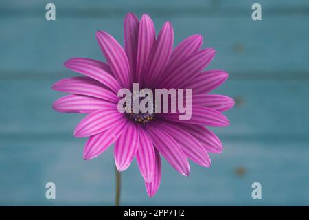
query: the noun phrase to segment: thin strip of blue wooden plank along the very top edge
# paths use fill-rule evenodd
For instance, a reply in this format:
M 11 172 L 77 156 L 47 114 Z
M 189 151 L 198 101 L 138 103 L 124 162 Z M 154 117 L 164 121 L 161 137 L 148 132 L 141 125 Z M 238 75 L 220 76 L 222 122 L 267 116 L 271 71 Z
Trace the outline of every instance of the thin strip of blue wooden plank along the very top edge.
M 192 8 L 200 11 L 200 9 L 212 8 L 216 10 L 235 10 L 237 8 L 247 8 L 251 10 L 251 5 L 256 3 L 254 0 L 238 0 L 233 2 L 227 2 L 225 0 L 157 0 L 157 1 L 143 1 L 143 0 L 132 0 L 132 1 L 123 1 L 123 0 L 114 0 L 114 1 L 101 1 L 101 0 L 92 0 L 91 3 L 85 2 L 82 0 L 67 0 L 60 1 L 54 0 L 53 3 L 58 8 L 66 9 L 82 9 L 82 10 L 103 10 L 104 12 L 109 11 L 110 13 L 115 13 L 117 10 L 153 10 L 161 9 L 168 10 L 170 12 L 185 9 L 187 11 L 192 10 Z M 304 8 L 309 6 L 308 1 L 306 0 L 260 0 L 258 1 L 268 10 L 269 8 L 290 8 L 293 9 L 295 6 L 299 8 Z M 27 2 L 18 1 L 18 0 L 3 0 L 0 5 L 3 9 L 14 9 L 14 10 L 40 10 L 44 9 L 47 3 L 39 0 L 29 0 Z M 159 12 L 159 11 L 157 11 Z M 104 16 L 104 14 L 102 14 Z

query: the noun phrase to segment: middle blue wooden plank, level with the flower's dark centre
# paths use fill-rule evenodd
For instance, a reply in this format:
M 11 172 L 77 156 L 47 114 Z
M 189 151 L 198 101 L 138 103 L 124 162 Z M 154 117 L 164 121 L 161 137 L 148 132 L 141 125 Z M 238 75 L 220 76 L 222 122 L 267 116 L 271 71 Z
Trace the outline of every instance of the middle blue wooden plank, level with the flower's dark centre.
M 65 77 L 65 75 L 64 75 Z M 233 76 L 231 76 L 233 78 Z M 68 135 L 84 117 L 52 109 L 55 80 L 0 80 L 1 138 L 5 135 Z M 236 99 L 226 115 L 228 128 L 214 129 L 219 135 L 304 135 L 308 137 L 308 81 L 228 80 L 216 91 Z M 4 136 L 4 137 L 3 137 Z M 292 136 L 293 138 L 293 136 Z

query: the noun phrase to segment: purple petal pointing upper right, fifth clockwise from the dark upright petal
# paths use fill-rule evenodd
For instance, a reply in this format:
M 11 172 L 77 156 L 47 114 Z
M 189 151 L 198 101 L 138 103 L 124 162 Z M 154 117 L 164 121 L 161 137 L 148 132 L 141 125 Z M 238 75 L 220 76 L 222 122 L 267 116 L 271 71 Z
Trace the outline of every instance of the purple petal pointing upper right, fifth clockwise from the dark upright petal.
M 179 66 L 169 72 L 166 78 L 161 83 L 161 88 L 182 88 L 187 83 L 191 82 L 198 76 L 214 58 L 215 50 L 207 48 L 196 52 L 190 58 L 183 61 Z

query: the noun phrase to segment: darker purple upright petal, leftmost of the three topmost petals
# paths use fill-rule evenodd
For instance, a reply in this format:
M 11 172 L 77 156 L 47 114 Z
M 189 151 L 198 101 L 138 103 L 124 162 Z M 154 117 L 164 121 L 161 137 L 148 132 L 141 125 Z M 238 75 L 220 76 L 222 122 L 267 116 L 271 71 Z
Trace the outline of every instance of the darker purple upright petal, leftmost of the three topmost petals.
M 136 80 L 137 45 L 139 38 L 139 19 L 133 13 L 126 14 L 124 18 L 124 51 L 128 56 L 130 72 Z

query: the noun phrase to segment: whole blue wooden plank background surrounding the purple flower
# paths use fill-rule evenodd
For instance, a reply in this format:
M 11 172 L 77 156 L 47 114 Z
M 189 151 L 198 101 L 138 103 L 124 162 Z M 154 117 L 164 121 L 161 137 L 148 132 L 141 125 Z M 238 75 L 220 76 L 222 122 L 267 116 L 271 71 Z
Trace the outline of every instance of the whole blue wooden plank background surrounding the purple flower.
M 262 21 L 251 5 L 262 4 Z M 56 21 L 45 20 L 55 3 Z M 122 42 L 126 12 L 148 13 L 157 31 L 174 26 L 175 44 L 203 34 L 217 50 L 209 68 L 226 69 L 216 92 L 233 97 L 231 126 L 213 129 L 224 152 L 190 177 L 163 162 L 157 195 L 148 198 L 136 162 L 122 175 L 123 205 L 309 205 L 309 1 L 113 0 L 0 2 L 0 204 L 113 205 L 113 148 L 82 159 L 73 137 L 83 115 L 57 113 L 51 85 L 75 76 L 71 57 L 102 59 L 95 31 Z M 54 181 L 56 199 L 45 199 Z M 262 184 L 262 199 L 251 184 Z

